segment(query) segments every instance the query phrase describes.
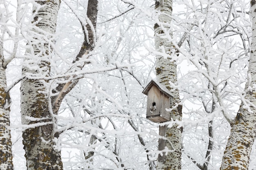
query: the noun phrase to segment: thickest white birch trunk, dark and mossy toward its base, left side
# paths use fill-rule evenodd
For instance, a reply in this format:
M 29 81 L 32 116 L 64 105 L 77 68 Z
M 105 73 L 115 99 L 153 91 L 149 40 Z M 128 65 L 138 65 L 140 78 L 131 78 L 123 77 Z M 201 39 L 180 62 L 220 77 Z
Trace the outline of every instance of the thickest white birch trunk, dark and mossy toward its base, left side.
M 33 29 L 35 35 L 29 40 L 32 49 L 22 67 L 23 75 L 49 76 L 49 38 L 55 33 L 60 0 L 36 1 Z M 38 41 L 39 40 L 39 41 Z M 27 159 L 27 170 L 61 170 L 61 152 L 55 148 L 54 118 L 48 108 L 47 82 L 37 79 L 23 79 L 21 82 L 21 119 L 27 129 L 23 131 L 23 144 Z M 32 126 L 32 127 L 31 127 Z M 25 126 L 26 127 L 26 126 Z

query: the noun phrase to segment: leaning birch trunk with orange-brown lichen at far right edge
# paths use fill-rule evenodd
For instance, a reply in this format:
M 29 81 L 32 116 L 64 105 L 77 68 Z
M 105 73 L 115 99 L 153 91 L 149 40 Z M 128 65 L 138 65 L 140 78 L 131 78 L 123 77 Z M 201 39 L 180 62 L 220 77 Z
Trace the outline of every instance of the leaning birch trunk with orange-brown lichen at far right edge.
M 236 119 L 231 124 L 231 132 L 222 158 L 220 170 L 248 170 L 249 158 L 256 137 L 256 2 L 251 0 L 252 44 L 245 99 L 249 106 L 242 102 Z

